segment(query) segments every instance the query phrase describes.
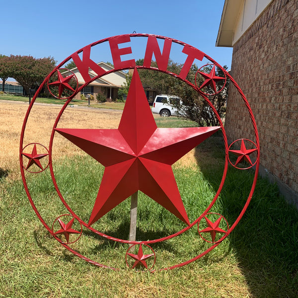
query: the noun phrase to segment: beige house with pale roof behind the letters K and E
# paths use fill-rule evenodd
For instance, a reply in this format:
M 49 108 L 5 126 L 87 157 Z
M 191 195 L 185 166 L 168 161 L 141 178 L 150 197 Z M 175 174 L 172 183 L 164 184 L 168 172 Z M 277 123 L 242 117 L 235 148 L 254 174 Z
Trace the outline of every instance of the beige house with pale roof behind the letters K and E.
M 97 63 L 102 69 L 105 71 L 111 71 L 114 68 L 104 62 Z M 71 70 L 77 77 L 78 85 L 81 86 L 85 83 L 82 75 L 79 73 L 77 68 L 74 68 Z M 67 72 L 65 73 L 67 74 Z M 95 77 L 97 74 L 93 72 L 92 70 L 89 71 L 90 77 Z M 125 83 L 126 74 L 121 71 L 117 71 L 115 73 L 106 74 L 100 78 L 97 78 L 88 86 L 84 87 L 80 93 L 75 95 L 76 99 L 80 99 L 80 95 L 84 94 L 91 94 L 96 99 L 96 94 L 99 92 L 102 92 L 106 95 L 107 101 L 112 101 L 117 98 L 118 90 L 121 88 L 121 85 L 124 85 Z

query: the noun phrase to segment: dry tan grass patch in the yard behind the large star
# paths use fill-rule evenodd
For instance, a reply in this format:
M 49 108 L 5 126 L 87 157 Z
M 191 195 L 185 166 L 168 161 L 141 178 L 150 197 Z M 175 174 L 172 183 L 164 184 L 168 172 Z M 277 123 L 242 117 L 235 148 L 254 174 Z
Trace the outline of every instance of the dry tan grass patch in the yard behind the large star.
M 0 168 L 9 171 L 9 178 L 19 177 L 19 143 L 23 121 L 28 109 L 27 103 L 0 102 Z M 40 143 L 49 147 L 53 125 L 61 106 L 37 105 L 30 111 L 24 134 L 24 146 L 29 143 Z M 76 109 L 68 107 L 58 124 L 63 128 L 100 128 L 115 129 L 118 127 L 121 112 L 110 110 Z M 158 115 L 155 117 L 159 117 Z M 53 156 L 82 154 L 82 151 L 59 134 L 55 135 Z M 176 166 L 192 167 L 196 164 L 194 150 L 181 158 Z

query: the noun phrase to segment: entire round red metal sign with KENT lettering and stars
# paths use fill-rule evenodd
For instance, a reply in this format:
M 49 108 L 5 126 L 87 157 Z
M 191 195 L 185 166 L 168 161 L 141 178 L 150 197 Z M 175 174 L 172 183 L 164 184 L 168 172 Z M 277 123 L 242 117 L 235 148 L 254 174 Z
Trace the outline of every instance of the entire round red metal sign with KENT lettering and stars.
M 145 55 L 143 57 L 134 57 L 136 53 L 133 53 L 133 48 L 130 46 L 132 38 L 142 39 L 142 44 L 145 45 Z M 147 40 L 147 43 L 144 43 L 144 40 Z M 173 44 L 175 44 L 175 47 L 172 47 Z M 101 47 L 102 45 L 103 47 Z M 91 54 L 100 53 L 102 50 L 106 51 L 106 46 L 111 51 L 110 54 L 113 60 L 114 69 L 109 68 L 107 70 L 101 68 L 99 64 L 97 64 L 98 61 L 95 61 L 95 59 L 98 60 L 98 57 L 95 58 L 91 56 Z M 95 49 L 95 51 L 93 51 L 93 49 L 91 51 L 92 47 L 98 48 Z M 185 62 L 181 70 L 179 70 L 176 74 L 167 71 L 167 65 L 169 57 L 172 55 L 172 51 L 178 51 L 177 54 L 179 55 L 183 53 L 185 57 Z M 130 59 L 126 58 L 126 55 L 131 55 Z M 156 65 L 151 67 L 153 55 L 155 57 L 157 67 Z M 136 66 L 136 61 L 142 58 L 144 58 L 143 66 Z M 75 74 L 70 70 L 63 69 L 63 66 L 71 60 L 76 66 Z M 203 60 L 208 61 L 208 64 L 205 66 L 211 66 L 211 72 L 208 73 L 201 71 L 205 66 L 200 68 L 197 75 L 203 76 L 204 83 L 202 84 L 200 80 L 200 84 L 198 83 L 198 86 L 196 79 L 195 81 L 187 79 L 187 74 L 194 63 L 198 63 L 197 65 L 200 65 L 200 61 Z M 92 72 L 90 72 L 90 69 Z M 92 83 L 96 85 L 96 80 L 100 80 L 102 76 L 108 77 L 109 75 L 109 77 L 111 77 L 116 72 L 130 69 L 134 69 L 134 75 L 118 129 L 70 129 L 62 126 L 62 122 L 60 122 L 62 116 L 67 117 L 69 115 L 68 113 L 64 114 L 64 111 L 66 109 L 73 108 L 72 100 L 77 94 L 79 94 L 79 92 L 83 91 L 84 87 Z M 214 116 L 217 118 L 220 126 L 196 128 L 157 128 L 138 74 L 139 69 L 146 69 L 152 72 L 162 72 L 163 74 L 179 79 L 179 82 L 182 81 L 182 83 L 187 87 L 191 87 L 197 92 L 198 97 L 205 100 L 209 106 L 210 113 L 214 113 Z M 223 77 L 218 76 L 216 70 L 221 70 Z M 78 85 L 76 75 L 79 75 L 84 82 L 82 83 L 80 79 L 80 84 Z M 230 84 L 234 85 L 236 90 L 239 92 L 241 100 L 245 103 L 251 120 L 250 124 L 252 124 L 254 130 L 254 136 L 252 137 L 253 141 L 248 139 L 239 139 L 228 146 L 227 140 L 233 140 L 233 136 L 232 134 L 228 135 L 225 132 L 222 120 L 212 103 L 211 97 L 209 97 L 223 90 L 219 90 L 219 85 L 225 85 L 227 78 L 229 79 Z M 224 82 L 220 82 L 221 80 L 224 80 Z M 34 133 L 30 134 L 30 136 L 27 135 L 27 132 L 31 128 L 30 126 L 27 126 L 26 128 L 26 124 L 29 120 L 30 112 L 34 106 L 37 96 L 43 92 L 43 88 L 46 86 L 48 86 L 50 92 L 53 91 L 53 96 L 59 99 L 66 99 L 65 104 L 58 113 L 57 118 L 56 115 L 53 117 L 54 125 L 51 137 L 49 138 L 46 146 L 33 142 L 28 145 L 23 145 L 24 140 L 31 140 L 32 138 L 35 141 L 36 138 L 39 138 L 39 136 L 34 135 Z M 204 93 L 202 89 L 213 90 L 212 92 L 215 93 Z M 63 96 L 68 97 L 63 98 Z M 70 105 L 71 107 L 69 107 Z M 100 111 L 98 111 L 98 113 L 100 113 Z M 248 122 L 245 122 L 245 127 L 249 125 Z M 37 123 L 37 125 L 41 126 L 43 124 L 44 123 Z M 201 204 L 203 202 L 201 202 L 202 195 L 196 193 L 195 191 L 193 192 L 195 195 L 195 204 L 197 204 L 196 212 L 194 213 L 194 210 L 192 210 L 192 215 L 189 215 L 188 217 L 187 213 L 189 213 L 189 205 L 185 205 L 184 207 L 185 201 L 182 201 L 182 199 L 184 200 L 185 198 L 188 200 L 189 197 L 183 193 L 181 198 L 173 174 L 172 165 L 184 154 L 212 136 L 219 129 L 221 129 L 224 148 L 224 170 L 222 180 L 217 184 L 218 189 L 215 189 L 215 195 L 213 198 L 210 198 L 209 202 L 207 202 L 204 197 L 204 203 Z M 80 196 L 74 196 L 74 202 L 71 201 L 71 206 L 68 205 L 67 200 L 72 200 L 70 199 L 72 194 L 64 188 L 64 186 L 68 187 L 69 185 L 66 181 L 68 178 L 61 175 L 61 172 L 57 170 L 56 166 L 60 165 L 60 163 L 56 163 L 57 156 L 55 155 L 55 149 L 53 148 L 56 144 L 54 140 L 58 137 L 58 134 L 64 136 L 105 167 L 101 182 L 98 182 L 98 185 L 96 185 L 96 191 L 98 189 L 97 195 L 94 195 L 92 198 L 88 198 L 93 200 L 91 201 L 90 208 L 87 203 L 84 205 L 84 202 L 79 201 L 81 200 Z M 123 268 L 123 265 L 125 264 L 123 259 L 125 258 L 126 264 L 130 268 L 145 268 L 151 271 L 155 264 L 155 260 L 159 265 L 159 270 L 174 269 L 194 262 L 216 248 L 217 245 L 224 241 L 224 239 L 232 232 L 247 209 L 255 189 L 259 169 L 259 149 L 258 132 L 249 103 L 237 83 L 231 75 L 224 70 L 224 68 L 222 68 L 211 57 L 207 56 L 200 50 L 185 44 L 184 42 L 169 37 L 136 33 L 104 38 L 87 45 L 66 58 L 47 76 L 36 91 L 26 113 L 21 131 L 19 157 L 22 180 L 30 204 L 32 205 L 32 208 L 40 222 L 62 246 L 82 260 L 99 267 L 110 268 L 113 270 Z M 234 160 L 237 160 L 232 163 L 229 155 L 236 155 Z M 46 164 L 46 161 L 48 161 L 48 164 Z M 247 194 L 247 200 L 243 205 L 243 209 L 235 221 L 228 224 L 222 215 L 215 214 L 212 211 L 214 210 L 215 203 L 217 202 L 224 187 L 225 177 L 230 171 L 231 167 L 229 166 L 229 163 L 240 170 L 248 169 L 254 165 L 255 167 L 253 168 L 254 179 L 251 189 Z M 241 168 L 240 166 L 243 164 L 248 164 L 249 167 Z M 79 168 L 81 164 L 77 165 Z M 38 171 L 30 171 L 32 168 L 37 168 Z M 55 177 L 56 170 L 57 181 Z M 43 174 L 38 174 L 40 172 L 43 172 Z M 57 199 L 60 199 L 58 202 L 59 204 L 62 203 L 62 205 L 60 205 L 59 208 L 51 207 L 49 210 L 45 210 L 44 206 L 46 206 L 45 204 L 47 204 L 47 200 L 49 198 L 47 198 L 43 193 L 39 193 L 38 189 L 36 189 L 36 185 L 38 185 L 38 183 L 32 183 L 32 181 L 34 177 L 37 177 L 37 179 L 38 177 L 44 178 L 49 177 L 49 174 L 57 192 Z M 82 194 L 86 195 L 84 193 L 84 187 L 81 186 L 81 188 Z M 150 223 L 147 219 L 141 219 L 141 216 L 138 220 L 136 220 L 136 222 L 140 224 L 138 237 L 140 237 L 139 239 L 145 240 L 128 240 L 128 235 L 122 234 L 122 229 L 121 232 L 116 231 L 114 235 L 109 235 L 106 231 L 106 227 L 103 228 L 103 231 L 99 230 L 102 226 L 101 224 L 106 224 L 106 220 L 107 222 L 109 221 L 109 219 L 102 219 L 102 217 L 105 214 L 108 214 L 109 211 L 126 200 L 129 196 L 133 195 L 132 197 L 135 197 L 137 191 L 139 190 L 182 221 L 182 223 L 178 223 L 176 225 L 178 230 L 175 230 L 175 228 L 173 228 L 173 231 L 167 231 L 164 229 L 161 230 L 161 235 L 159 235 L 159 232 L 156 231 L 155 233 L 153 230 L 152 233 L 150 231 L 150 234 L 147 234 L 146 228 L 141 227 L 141 224 L 145 224 L 150 228 Z M 205 194 L 203 195 L 205 196 Z M 55 204 L 54 201 L 53 204 Z M 206 202 L 208 206 L 204 205 Z M 52 202 L 50 204 L 52 204 Z M 79 208 L 76 207 L 78 205 L 80 205 Z M 40 206 L 43 206 L 43 208 L 40 209 Z M 140 207 L 141 206 L 142 205 L 140 204 Z M 75 208 L 75 211 L 72 207 Z M 144 205 L 142 207 L 144 207 Z M 51 214 L 50 210 L 52 212 Z M 45 214 L 46 216 L 44 216 Z M 139 213 L 139 215 L 140 214 L 141 213 Z M 193 220 L 193 215 L 195 215 L 197 219 Z M 66 216 L 69 218 L 63 218 Z M 191 223 L 189 218 L 192 219 Z M 100 219 L 101 221 L 99 221 Z M 97 221 L 99 222 L 95 224 Z M 119 228 L 120 230 L 120 223 L 116 221 L 115 224 L 116 229 Z M 117 226 L 117 224 L 119 225 Z M 182 229 L 180 229 L 181 224 L 183 226 Z M 194 228 L 196 229 L 195 231 L 193 230 Z M 195 243 L 197 243 L 197 240 L 208 242 L 206 244 L 207 246 L 200 245 L 199 247 L 196 247 L 196 251 L 198 251 L 196 256 L 188 258 L 186 253 L 186 259 L 184 260 L 184 256 L 182 255 L 169 258 L 167 254 L 155 254 L 153 248 L 156 249 L 156 246 L 154 247 L 156 243 L 167 241 L 166 245 L 175 249 L 177 248 L 176 246 L 181 245 L 181 241 L 175 242 L 168 240 L 173 240 L 176 236 L 182 235 L 184 232 L 191 229 L 194 232 L 190 233 L 192 234 L 190 238 L 187 238 L 188 235 L 184 234 L 187 242 L 188 240 L 192 241 L 192 239 L 195 239 L 192 243 L 194 246 L 196 245 Z M 106 234 L 104 233 L 105 231 Z M 77 241 L 78 239 L 80 240 Z M 104 265 L 101 261 L 99 261 L 101 260 L 101 256 L 99 256 L 100 251 L 98 250 L 98 247 L 101 247 L 101 244 L 98 244 L 99 241 L 100 243 L 104 242 L 102 239 L 109 239 L 110 241 L 122 243 L 115 248 L 119 252 L 117 252 L 117 258 L 119 258 L 119 260 L 117 259 L 117 263 L 119 265 L 117 265 L 117 267 L 119 268 L 110 267 L 108 264 Z M 74 242 L 75 244 L 73 244 Z M 95 248 L 94 251 L 96 251 L 96 253 L 91 252 L 93 249 L 89 249 L 88 252 L 84 252 L 86 250 L 86 243 L 88 243 L 88 249 L 93 247 Z M 130 246 L 129 249 L 127 249 L 128 246 Z M 138 250 L 133 251 L 132 247 L 134 246 L 138 247 Z M 158 250 L 161 249 L 160 247 L 161 246 L 158 247 Z M 201 250 L 202 247 L 205 248 Z M 181 251 L 180 248 L 179 251 Z M 86 257 L 86 255 L 90 257 Z M 119 256 L 122 256 L 122 259 Z M 130 265 L 128 265 L 127 258 Z M 176 264 L 168 264 L 167 262 L 174 262 Z M 112 264 L 114 264 L 114 260 Z

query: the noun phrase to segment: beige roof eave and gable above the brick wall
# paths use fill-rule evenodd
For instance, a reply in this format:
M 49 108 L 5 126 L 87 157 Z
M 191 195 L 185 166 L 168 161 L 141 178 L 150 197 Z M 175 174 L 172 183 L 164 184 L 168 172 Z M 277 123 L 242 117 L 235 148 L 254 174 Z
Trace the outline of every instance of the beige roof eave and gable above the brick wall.
M 232 47 L 273 0 L 225 0 L 217 47 Z

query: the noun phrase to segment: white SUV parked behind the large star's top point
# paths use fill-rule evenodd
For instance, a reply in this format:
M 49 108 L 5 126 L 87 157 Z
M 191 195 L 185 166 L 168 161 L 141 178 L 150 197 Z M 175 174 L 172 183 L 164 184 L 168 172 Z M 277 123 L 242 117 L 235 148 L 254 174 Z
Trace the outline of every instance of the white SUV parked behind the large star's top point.
M 170 104 L 175 102 L 181 102 L 178 96 L 160 94 L 157 95 L 154 99 L 152 106 L 152 113 L 159 114 L 161 117 L 170 117 L 175 116 L 177 110 L 172 107 Z

